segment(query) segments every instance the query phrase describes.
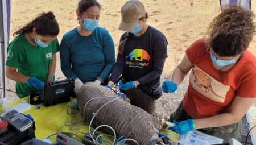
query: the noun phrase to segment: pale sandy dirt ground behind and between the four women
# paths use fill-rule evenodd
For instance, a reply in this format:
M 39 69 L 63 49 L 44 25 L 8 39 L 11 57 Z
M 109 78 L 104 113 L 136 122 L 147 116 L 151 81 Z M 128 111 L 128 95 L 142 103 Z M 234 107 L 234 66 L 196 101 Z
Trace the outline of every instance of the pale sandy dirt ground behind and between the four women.
M 126 0 L 98 0 L 102 5 L 99 26 L 110 32 L 115 43 L 119 43 L 119 38 L 123 31 L 118 30 L 121 21 L 121 6 Z M 24 26 L 36 15 L 42 11 L 53 11 L 60 25 L 60 34 L 57 36 L 59 42 L 62 36 L 68 31 L 78 26 L 76 7 L 78 0 L 13 0 L 11 5 L 11 28 L 12 35 L 19 26 Z M 203 38 L 208 24 L 214 16 L 220 13 L 220 2 L 212 1 L 194 1 L 193 7 L 189 0 L 142 0 L 149 14 L 147 23 L 160 30 L 168 40 L 168 58 L 164 66 L 161 77 L 163 82 L 170 78 L 170 73 L 180 62 L 185 54 L 185 49 L 195 40 Z M 255 1 L 252 2 L 252 10 L 255 11 Z M 10 41 L 13 40 L 10 36 Z M 250 51 L 256 54 L 255 38 L 250 45 Z M 57 69 L 55 73 L 57 80 L 63 80 L 65 77 L 60 69 L 60 58 L 58 56 Z M 15 90 L 15 82 L 8 81 L 8 88 Z M 188 76 L 184 79 L 179 89 L 170 94 L 164 94 L 157 103 L 157 113 L 159 117 L 169 117 L 171 111 L 176 110 L 182 100 L 185 91 L 188 88 Z M 11 97 L 16 97 L 15 93 L 8 93 Z M 170 109 L 171 104 L 171 109 Z

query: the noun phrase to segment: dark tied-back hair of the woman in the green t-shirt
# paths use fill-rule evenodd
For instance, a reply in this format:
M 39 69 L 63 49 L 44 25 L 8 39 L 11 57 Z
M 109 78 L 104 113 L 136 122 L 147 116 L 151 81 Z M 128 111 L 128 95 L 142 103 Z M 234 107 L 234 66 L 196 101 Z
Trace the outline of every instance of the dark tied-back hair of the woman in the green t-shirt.
M 48 13 L 40 14 L 32 22 L 14 32 L 13 36 L 30 33 L 33 31 L 33 28 L 36 28 L 36 34 L 42 36 L 57 36 L 60 32 L 55 15 L 49 11 Z

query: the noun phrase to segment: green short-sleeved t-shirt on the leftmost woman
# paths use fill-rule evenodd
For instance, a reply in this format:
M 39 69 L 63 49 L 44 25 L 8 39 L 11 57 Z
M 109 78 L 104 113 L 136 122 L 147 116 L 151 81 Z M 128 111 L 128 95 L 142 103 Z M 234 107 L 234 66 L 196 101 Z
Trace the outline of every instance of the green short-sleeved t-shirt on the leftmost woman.
M 26 36 L 17 36 L 7 47 L 6 66 L 18 68 L 18 72 L 27 77 L 35 77 L 46 82 L 51 67 L 52 55 L 59 52 L 57 39 L 49 43 L 48 47 L 36 47 L 28 42 Z M 34 86 L 16 82 L 16 92 L 19 98 L 36 93 Z M 21 93 L 21 94 L 18 94 Z

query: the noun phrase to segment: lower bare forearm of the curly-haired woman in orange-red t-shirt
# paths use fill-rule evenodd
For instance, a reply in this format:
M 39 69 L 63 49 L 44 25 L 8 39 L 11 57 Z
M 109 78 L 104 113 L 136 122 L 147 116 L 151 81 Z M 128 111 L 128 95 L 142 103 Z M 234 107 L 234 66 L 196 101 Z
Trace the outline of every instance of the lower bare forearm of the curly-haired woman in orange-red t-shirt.
M 196 129 L 203 129 L 209 127 L 219 127 L 232 125 L 233 123 L 237 123 L 241 118 L 236 118 L 230 113 L 222 113 L 218 115 L 214 115 L 213 117 L 203 118 L 203 119 L 195 119 Z

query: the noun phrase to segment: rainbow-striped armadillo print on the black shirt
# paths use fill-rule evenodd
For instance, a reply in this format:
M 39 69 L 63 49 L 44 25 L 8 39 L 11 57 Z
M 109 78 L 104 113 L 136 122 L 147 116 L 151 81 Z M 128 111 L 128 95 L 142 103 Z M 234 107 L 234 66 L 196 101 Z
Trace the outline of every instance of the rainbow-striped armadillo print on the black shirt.
M 143 50 L 143 49 L 134 49 L 128 56 L 126 56 L 125 58 L 130 57 L 131 60 L 133 60 L 133 58 L 135 60 L 139 60 L 142 61 L 147 60 L 149 61 L 151 59 L 150 55 L 148 55 L 147 51 Z

